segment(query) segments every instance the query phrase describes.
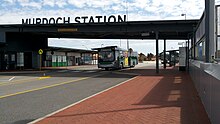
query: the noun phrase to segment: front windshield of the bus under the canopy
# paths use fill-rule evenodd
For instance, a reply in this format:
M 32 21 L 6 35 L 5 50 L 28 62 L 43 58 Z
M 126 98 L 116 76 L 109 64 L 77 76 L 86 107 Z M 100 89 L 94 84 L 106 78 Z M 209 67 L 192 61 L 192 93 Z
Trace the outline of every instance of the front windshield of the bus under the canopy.
M 99 61 L 114 61 L 114 52 L 113 51 L 100 51 L 99 52 Z

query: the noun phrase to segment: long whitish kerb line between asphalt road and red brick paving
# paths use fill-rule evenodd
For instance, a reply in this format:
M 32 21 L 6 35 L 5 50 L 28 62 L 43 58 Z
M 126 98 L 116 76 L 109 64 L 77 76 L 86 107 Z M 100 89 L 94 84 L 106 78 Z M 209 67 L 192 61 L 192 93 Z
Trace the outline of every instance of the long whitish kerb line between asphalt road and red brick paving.
M 121 82 L 121 83 L 119 83 L 119 84 L 117 84 L 117 85 L 115 85 L 115 86 L 112 86 L 112 87 L 110 87 L 110 88 L 108 88 L 108 89 L 105 89 L 105 90 L 103 90 L 103 91 L 100 91 L 100 92 L 98 92 L 98 93 L 96 93 L 96 94 L 93 94 L 93 95 L 91 95 L 91 96 L 89 96 L 89 97 L 87 97 L 87 98 L 84 98 L 84 99 L 82 99 L 82 100 L 80 100 L 80 101 L 78 101 L 78 102 L 75 102 L 75 103 L 73 103 L 73 104 L 71 104 L 71 105 L 69 105 L 69 106 L 66 106 L 66 107 L 64 107 L 64 108 L 62 108 L 62 109 L 59 109 L 59 110 L 57 110 L 57 111 L 55 111 L 55 112 L 53 112 L 53 113 L 51 113 L 51 114 L 48 114 L 48 115 L 46 115 L 46 116 L 44 116 L 44 117 L 42 117 L 42 118 L 39 118 L 39 119 L 34 120 L 34 121 L 32 121 L 32 122 L 29 122 L 28 124 L 37 123 L 37 122 L 39 122 L 39 121 L 41 121 L 41 120 L 43 120 L 43 119 L 45 119 L 45 118 L 47 118 L 47 117 L 50 117 L 50 116 L 52 116 L 52 115 L 54 115 L 54 114 L 57 114 L 57 113 L 59 113 L 59 112 L 65 110 L 65 109 L 68 109 L 68 108 L 70 108 L 70 107 L 72 107 L 72 106 L 74 106 L 74 105 L 77 105 L 77 104 L 79 104 L 79 103 L 81 103 L 81 102 L 83 102 L 83 101 L 86 101 L 86 100 L 88 100 L 88 99 L 90 99 L 90 98 L 92 98 L 92 97 L 95 97 L 96 95 L 99 95 L 99 94 L 104 93 L 104 92 L 106 92 L 106 91 L 108 91 L 108 90 L 111 90 L 111 89 L 113 89 L 113 88 L 115 88 L 115 87 L 117 87 L 117 86 L 120 86 L 120 85 L 122 85 L 122 84 L 124 84 L 124 83 L 126 83 L 126 82 L 128 82 L 128 81 L 130 81 L 130 80 L 133 80 L 133 79 L 135 79 L 135 78 L 137 78 L 137 76 L 136 76 L 136 77 L 133 77 L 133 78 L 131 78 L 131 79 L 128 79 L 128 80 L 126 80 L 126 81 L 123 81 L 123 82 Z

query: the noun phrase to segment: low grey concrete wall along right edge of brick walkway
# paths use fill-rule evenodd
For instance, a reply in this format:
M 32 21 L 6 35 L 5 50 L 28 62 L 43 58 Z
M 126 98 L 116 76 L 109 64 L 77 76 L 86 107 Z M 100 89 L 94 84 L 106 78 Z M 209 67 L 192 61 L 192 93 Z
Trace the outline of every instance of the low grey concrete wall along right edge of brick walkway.
M 213 124 L 220 124 L 220 64 L 190 61 L 190 75 Z

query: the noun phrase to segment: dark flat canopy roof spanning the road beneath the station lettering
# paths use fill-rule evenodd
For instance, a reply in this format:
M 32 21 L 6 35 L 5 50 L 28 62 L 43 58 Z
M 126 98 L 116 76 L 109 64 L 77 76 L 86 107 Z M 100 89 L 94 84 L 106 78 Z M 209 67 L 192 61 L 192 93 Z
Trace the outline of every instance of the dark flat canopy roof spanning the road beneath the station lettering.
M 199 20 L 129 21 L 109 23 L 0 25 L 0 32 L 47 38 L 186 40 Z

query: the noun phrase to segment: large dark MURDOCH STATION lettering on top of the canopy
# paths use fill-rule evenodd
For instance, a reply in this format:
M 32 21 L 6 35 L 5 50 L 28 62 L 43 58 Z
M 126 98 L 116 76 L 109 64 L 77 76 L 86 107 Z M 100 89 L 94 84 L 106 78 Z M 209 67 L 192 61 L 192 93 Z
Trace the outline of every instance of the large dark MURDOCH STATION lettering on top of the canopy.
M 27 18 L 22 19 L 22 24 L 70 24 L 70 23 L 109 23 L 109 22 L 126 22 L 126 15 L 118 16 L 77 16 L 72 17 L 57 17 L 57 18 Z

